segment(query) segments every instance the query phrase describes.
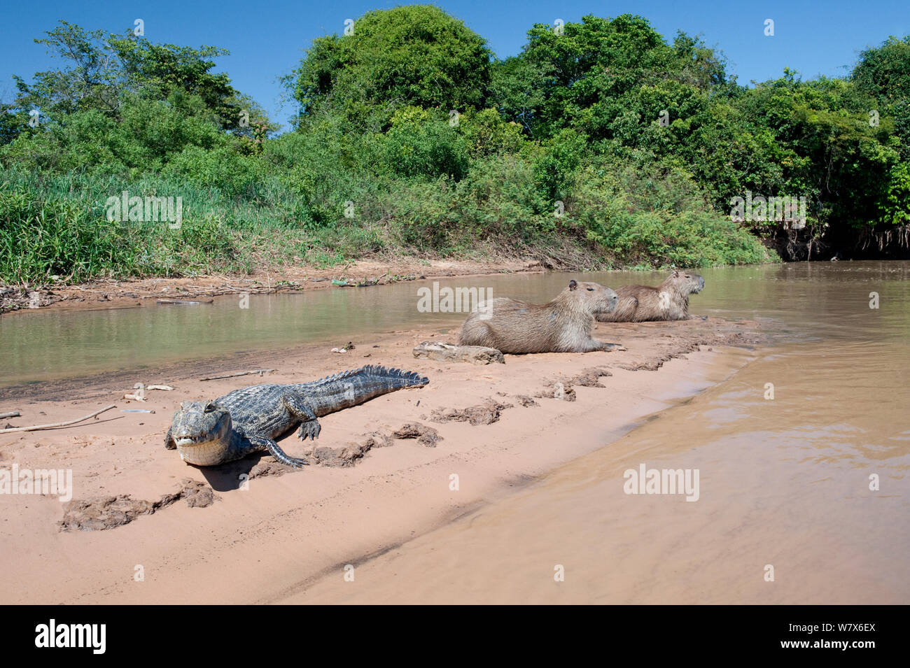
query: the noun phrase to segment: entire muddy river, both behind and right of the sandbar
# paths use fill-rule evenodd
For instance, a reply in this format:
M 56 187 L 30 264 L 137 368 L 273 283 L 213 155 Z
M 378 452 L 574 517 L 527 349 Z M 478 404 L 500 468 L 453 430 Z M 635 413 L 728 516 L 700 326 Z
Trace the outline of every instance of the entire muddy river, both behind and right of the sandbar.
M 910 603 L 908 273 L 906 262 L 705 270 L 693 312 L 758 320 L 769 335 L 750 364 L 541 482 L 360 565 L 359 582 L 371 584 L 327 578 L 304 600 Z M 440 287 L 545 301 L 579 276 Z M 612 286 L 661 277 L 584 275 Z M 0 386 L 457 326 L 463 314 L 420 312 L 418 290 L 431 285 L 253 295 L 248 309 L 223 297 L 5 316 Z M 642 465 L 697 472 L 697 501 L 627 494 L 626 473 Z

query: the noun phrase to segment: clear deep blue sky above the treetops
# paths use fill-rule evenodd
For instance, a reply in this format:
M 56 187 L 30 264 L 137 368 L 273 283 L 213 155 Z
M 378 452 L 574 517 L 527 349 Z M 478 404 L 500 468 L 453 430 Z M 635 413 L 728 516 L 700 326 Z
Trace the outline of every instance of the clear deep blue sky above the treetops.
M 15 95 L 11 75 L 30 80 L 54 61 L 45 55 L 44 36 L 60 19 L 86 29 L 123 33 L 136 18 L 145 21 L 153 42 L 178 45 L 216 45 L 229 56 L 218 60 L 238 90 L 252 95 L 269 115 L 285 123 L 296 109 L 279 108 L 282 94 L 278 76 L 290 72 L 314 37 L 341 33 L 347 18 L 369 9 L 408 3 L 384 2 L 268 2 L 267 0 L 206 0 L 204 2 L 45 2 L 8 0 L 0 10 L 0 99 Z M 843 76 L 861 50 L 878 45 L 888 35 L 910 34 L 907 0 L 833 0 L 830 2 L 754 2 L 709 0 L 675 2 L 493 2 L 452 0 L 435 5 L 460 18 L 488 40 L 500 56 L 516 55 L 532 24 L 552 24 L 557 18 L 579 21 L 582 15 L 615 16 L 625 13 L 648 18 L 654 28 L 672 40 L 677 30 L 702 35 L 706 44 L 720 48 L 730 61 L 728 71 L 740 84 L 764 81 L 789 66 L 804 78 Z M 765 19 L 773 19 L 773 37 L 764 35 Z

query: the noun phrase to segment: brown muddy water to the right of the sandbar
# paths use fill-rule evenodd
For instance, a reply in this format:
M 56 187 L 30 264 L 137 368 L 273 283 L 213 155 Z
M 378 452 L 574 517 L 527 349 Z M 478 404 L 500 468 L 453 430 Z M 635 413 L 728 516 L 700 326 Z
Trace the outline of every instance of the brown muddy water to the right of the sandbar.
M 357 586 L 329 576 L 301 600 L 910 603 L 908 270 L 706 273 L 696 311 L 758 315 L 776 334 L 750 364 L 540 483 L 359 565 Z M 642 464 L 697 471 L 697 501 L 627 494 L 625 474 Z

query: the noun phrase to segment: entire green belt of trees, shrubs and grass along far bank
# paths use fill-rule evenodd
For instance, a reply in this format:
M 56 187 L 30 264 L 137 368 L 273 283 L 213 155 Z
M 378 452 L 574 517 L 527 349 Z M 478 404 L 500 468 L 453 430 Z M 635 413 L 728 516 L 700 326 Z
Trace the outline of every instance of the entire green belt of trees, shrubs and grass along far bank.
M 299 107 L 286 132 L 213 73 L 217 47 L 66 22 L 37 41 L 66 65 L 16 78 L 0 109 L 0 282 L 906 249 L 910 37 L 867 49 L 844 79 L 787 70 L 746 87 L 718 51 L 640 16 L 533 25 L 500 60 L 439 8 L 403 6 L 314 40 L 284 79 Z M 121 196 L 130 211 L 174 198 L 179 220 L 112 215 Z M 762 197 L 804 198 L 804 221 Z

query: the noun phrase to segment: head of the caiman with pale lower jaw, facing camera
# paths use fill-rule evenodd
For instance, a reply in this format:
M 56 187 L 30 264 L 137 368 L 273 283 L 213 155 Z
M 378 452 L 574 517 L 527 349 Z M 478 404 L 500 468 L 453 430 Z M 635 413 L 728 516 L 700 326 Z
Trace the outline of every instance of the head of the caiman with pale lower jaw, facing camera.
M 220 457 L 230 443 L 230 413 L 215 402 L 183 402 L 171 421 L 171 438 L 180 458 L 189 464 L 206 465 Z

